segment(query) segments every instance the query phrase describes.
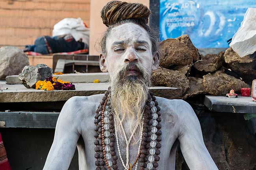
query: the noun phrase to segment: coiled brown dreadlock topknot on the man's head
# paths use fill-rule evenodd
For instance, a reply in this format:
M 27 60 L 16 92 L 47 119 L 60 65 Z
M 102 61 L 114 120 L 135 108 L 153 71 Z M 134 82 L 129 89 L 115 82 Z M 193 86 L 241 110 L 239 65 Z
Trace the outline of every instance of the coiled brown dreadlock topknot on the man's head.
M 107 27 L 124 20 L 134 20 L 137 24 L 145 27 L 148 24 L 149 15 L 150 10 L 143 4 L 117 0 L 108 2 L 101 10 L 103 24 Z

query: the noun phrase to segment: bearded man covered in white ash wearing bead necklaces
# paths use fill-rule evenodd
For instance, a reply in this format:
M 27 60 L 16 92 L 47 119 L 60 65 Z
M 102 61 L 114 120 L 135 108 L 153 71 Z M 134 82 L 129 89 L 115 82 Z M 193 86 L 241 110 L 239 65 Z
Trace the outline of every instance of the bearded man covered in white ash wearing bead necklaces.
M 142 4 L 103 7 L 99 62 L 111 87 L 65 103 L 44 170 L 67 170 L 76 146 L 80 170 L 174 170 L 178 144 L 190 170 L 218 170 L 191 106 L 148 91 L 160 59 L 149 15 Z

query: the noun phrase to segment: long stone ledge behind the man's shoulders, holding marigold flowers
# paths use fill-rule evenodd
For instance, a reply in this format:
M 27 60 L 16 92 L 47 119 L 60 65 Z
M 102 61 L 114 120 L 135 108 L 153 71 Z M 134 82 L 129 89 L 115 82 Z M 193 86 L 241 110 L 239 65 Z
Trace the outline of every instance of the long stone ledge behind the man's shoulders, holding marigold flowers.
M 67 101 L 73 96 L 89 96 L 95 94 L 104 93 L 109 83 L 74 83 L 76 90 L 53 90 L 43 91 L 35 90 L 33 88 L 25 88 L 22 84 L 5 84 L 4 81 L 0 81 L 3 85 L 3 89 L 0 91 L 0 102 L 56 102 Z M 159 97 L 165 97 L 167 99 L 180 99 L 182 96 L 182 90 L 180 88 L 168 88 L 168 87 L 150 87 L 151 91 Z

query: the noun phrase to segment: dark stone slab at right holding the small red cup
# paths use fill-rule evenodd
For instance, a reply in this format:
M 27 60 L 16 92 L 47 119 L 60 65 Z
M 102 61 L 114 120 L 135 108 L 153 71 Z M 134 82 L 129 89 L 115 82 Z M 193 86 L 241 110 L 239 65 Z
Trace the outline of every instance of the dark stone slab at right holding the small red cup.
M 204 105 L 215 112 L 256 113 L 256 102 L 252 101 L 252 97 L 228 98 L 206 95 Z

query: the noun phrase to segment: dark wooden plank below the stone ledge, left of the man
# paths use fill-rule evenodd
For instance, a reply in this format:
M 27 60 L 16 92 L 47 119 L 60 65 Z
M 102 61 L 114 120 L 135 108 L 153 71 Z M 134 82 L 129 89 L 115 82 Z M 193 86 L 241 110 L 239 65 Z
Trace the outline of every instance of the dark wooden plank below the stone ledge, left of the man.
M 55 128 L 59 112 L 0 112 L 0 128 Z

